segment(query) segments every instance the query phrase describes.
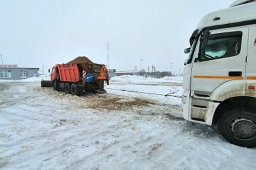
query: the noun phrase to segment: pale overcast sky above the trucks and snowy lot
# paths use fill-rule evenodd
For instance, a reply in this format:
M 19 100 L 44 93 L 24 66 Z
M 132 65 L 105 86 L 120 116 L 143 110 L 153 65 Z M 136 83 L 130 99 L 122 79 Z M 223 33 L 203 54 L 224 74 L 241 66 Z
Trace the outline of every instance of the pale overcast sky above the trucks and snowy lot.
M 4 64 L 46 69 L 87 56 L 117 71 L 183 69 L 203 15 L 234 0 L 0 0 Z M 151 69 L 150 69 L 151 70 Z

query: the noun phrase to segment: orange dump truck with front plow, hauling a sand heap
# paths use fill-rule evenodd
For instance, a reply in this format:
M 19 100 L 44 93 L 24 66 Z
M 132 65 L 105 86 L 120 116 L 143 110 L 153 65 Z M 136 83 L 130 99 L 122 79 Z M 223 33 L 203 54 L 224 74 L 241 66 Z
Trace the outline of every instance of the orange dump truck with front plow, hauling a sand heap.
M 50 69 L 49 69 L 50 73 Z M 104 82 L 109 84 L 106 66 L 96 63 L 56 64 L 51 72 L 51 81 L 41 81 L 41 87 L 52 86 L 71 95 L 82 92 L 106 93 Z

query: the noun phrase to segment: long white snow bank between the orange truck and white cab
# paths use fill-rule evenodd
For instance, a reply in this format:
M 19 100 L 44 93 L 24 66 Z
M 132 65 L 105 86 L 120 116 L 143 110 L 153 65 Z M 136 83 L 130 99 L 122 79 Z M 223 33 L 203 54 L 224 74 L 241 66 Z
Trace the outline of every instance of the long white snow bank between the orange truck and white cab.
M 111 78 L 111 81 L 127 82 L 127 83 L 182 83 L 182 77 L 163 77 L 151 78 L 138 75 L 121 75 Z

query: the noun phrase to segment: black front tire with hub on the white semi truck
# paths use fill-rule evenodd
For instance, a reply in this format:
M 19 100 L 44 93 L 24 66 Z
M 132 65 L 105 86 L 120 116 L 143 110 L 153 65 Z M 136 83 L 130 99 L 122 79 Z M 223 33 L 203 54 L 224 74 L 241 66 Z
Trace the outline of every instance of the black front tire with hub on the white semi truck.
M 218 120 L 218 130 L 231 144 L 256 147 L 256 112 L 247 108 L 228 110 Z

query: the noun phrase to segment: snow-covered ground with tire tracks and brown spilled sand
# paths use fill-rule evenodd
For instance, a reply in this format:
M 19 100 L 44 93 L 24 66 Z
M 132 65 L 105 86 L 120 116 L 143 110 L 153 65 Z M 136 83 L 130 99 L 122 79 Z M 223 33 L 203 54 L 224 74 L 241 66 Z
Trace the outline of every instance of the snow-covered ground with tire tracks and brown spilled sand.
M 184 121 L 180 99 L 163 96 L 180 95 L 182 78 L 115 77 L 81 97 L 41 79 L 0 82 L 1 170 L 256 169 L 256 149 Z

